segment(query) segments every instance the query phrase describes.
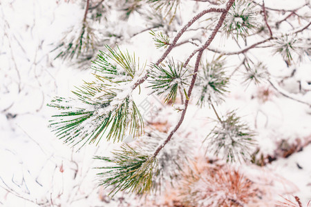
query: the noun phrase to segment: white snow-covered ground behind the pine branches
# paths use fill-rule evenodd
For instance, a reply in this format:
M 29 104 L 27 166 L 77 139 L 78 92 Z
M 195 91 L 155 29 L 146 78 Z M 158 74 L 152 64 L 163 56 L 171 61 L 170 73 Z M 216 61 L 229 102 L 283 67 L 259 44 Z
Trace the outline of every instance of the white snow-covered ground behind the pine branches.
M 301 2 L 284 1 L 283 6 L 295 8 Z M 267 1 L 267 6 L 277 6 L 277 1 Z M 92 77 L 90 70 L 68 66 L 50 54 L 55 47 L 53 43 L 62 38 L 62 32 L 82 16 L 82 8 L 73 3 L 0 2 L 0 206 L 115 206 L 120 203 L 135 206 L 131 201 L 122 202 L 122 197 L 109 201 L 104 196 L 106 192 L 97 187 L 98 170 L 94 168 L 98 163 L 92 157 L 106 155 L 117 144 L 102 141 L 100 147 L 86 146 L 77 152 L 77 148 L 63 144 L 47 127 L 55 110 L 46 103 L 55 96 L 72 96 L 70 91 L 74 86 Z M 125 47 L 130 51 L 135 49 L 136 55 L 149 62 L 161 54 L 153 46 L 148 32 L 122 45 Z M 187 46 L 180 47 L 180 51 L 184 50 Z M 185 57 L 180 53 L 177 55 Z M 253 51 L 252 55 L 269 63 L 272 74 L 286 75 L 286 66 L 280 57 L 266 55 L 264 49 Z M 284 90 L 299 90 L 296 79 L 311 81 L 310 66 L 310 59 L 305 59 L 295 79 L 284 83 Z M 288 145 L 309 144 L 288 158 L 278 157 L 265 167 L 243 167 L 269 188 L 272 199 L 280 199 L 279 195 L 298 195 L 303 204 L 307 204 L 311 199 L 311 110 L 303 103 L 279 95 L 271 86 L 268 100 L 262 101 L 260 92 L 267 86 L 245 89 L 238 81 L 233 82 L 226 104 L 219 109 L 226 112 L 238 108 L 239 115 L 256 127 L 256 139 L 263 155 L 274 155 L 282 140 Z M 309 87 L 308 92 L 297 96 L 311 103 L 310 85 L 305 87 Z M 145 97 L 147 92 L 143 91 L 138 103 Z M 169 127 L 178 120 L 176 111 L 166 106 L 158 117 L 158 121 L 167 121 Z M 187 135 L 191 140 L 204 139 L 211 129 L 205 126 L 213 119 L 216 117 L 209 108 L 199 110 L 193 103 L 180 135 Z

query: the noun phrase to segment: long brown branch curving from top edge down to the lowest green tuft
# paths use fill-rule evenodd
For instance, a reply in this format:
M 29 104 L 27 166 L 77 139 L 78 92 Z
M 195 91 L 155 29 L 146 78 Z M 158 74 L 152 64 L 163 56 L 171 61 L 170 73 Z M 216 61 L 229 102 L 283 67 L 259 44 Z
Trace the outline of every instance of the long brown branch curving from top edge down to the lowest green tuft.
M 211 33 L 211 36 L 206 41 L 206 43 L 198 50 L 198 57 L 196 58 L 196 65 L 194 66 L 194 75 L 192 76 L 191 84 L 190 84 L 190 87 L 188 90 L 188 97 L 189 98 L 191 97 L 192 90 L 194 89 L 194 83 L 196 83 L 196 77 L 198 75 L 198 67 L 200 65 L 200 60 L 202 58 L 203 51 L 211 44 L 211 41 L 213 41 L 214 38 L 216 37 L 216 34 L 217 34 L 218 30 L 220 29 L 220 27 L 223 25 L 223 21 L 225 21 L 225 17 L 227 15 L 227 13 L 229 12 L 229 9 L 232 7 L 232 4 L 234 3 L 234 1 L 235 0 L 227 1 L 225 11 L 223 12 L 223 14 L 221 14 L 220 19 L 218 20 L 216 27 L 214 28 L 213 32 Z M 156 149 L 156 152 L 154 152 L 153 157 L 156 157 L 158 155 L 160 150 L 162 150 L 162 148 L 164 148 L 164 146 L 171 140 L 171 137 L 173 137 L 173 134 L 178 130 L 178 128 L 180 128 L 182 121 L 184 121 L 184 119 L 185 119 L 185 115 L 186 115 L 188 105 L 189 105 L 189 99 L 186 99 L 185 108 L 182 110 L 182 115 L 178 121 L 178 124 L 175 126 L 175 128 L 173 128 L 173 130 L 171 130 L 171 132 L 169 133 L 169 136 L 167 137 L 167 139 L 165 139 L 163 144 L 161 144 Z

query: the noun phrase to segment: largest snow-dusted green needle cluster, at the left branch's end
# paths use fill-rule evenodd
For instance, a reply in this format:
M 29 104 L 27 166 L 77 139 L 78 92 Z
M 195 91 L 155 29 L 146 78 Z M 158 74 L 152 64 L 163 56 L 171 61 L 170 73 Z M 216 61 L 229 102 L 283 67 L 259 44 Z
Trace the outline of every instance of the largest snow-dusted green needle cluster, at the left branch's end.
M 57 137 L 70 144 L 92 143 L 105 134 L 106 139 L 122 141 L 130 133 L 139 137 L 144 132 L 140 112 L 131 97 L 135 73 L 140 71 L 135 55 L 114 50 L 100 52 L 93 62 L 95 81 L 85 82 L 73 93 L 76 99 L 57 97 L 48 106 L 62 110 L 51 121 Z M 80 139 L 77 141 L 76 139 Z

